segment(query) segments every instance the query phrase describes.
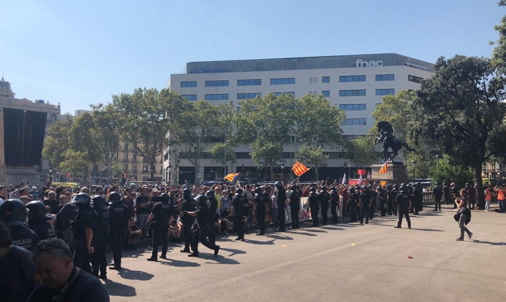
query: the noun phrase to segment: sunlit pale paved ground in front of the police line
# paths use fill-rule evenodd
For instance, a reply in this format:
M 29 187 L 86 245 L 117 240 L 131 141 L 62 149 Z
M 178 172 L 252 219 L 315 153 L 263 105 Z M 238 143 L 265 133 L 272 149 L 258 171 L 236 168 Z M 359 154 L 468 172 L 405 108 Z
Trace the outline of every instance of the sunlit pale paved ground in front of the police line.
M 201 244 L 200 258 L 172 244 L 158 262 L 146 261 L 150 247 L 127 251 L 104 286 L 111 301 L 504 301 L 506 214 L 473 212 L 472 240 L 457 242 L 449 206 L 421 213 L 412 229 L 387 216 L 231 235 L 217 257 Z

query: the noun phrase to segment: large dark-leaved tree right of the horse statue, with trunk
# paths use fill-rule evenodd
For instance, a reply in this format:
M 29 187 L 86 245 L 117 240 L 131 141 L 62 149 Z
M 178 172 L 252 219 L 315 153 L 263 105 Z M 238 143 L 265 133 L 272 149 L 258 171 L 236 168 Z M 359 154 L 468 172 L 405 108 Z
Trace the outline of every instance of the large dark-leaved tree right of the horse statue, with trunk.
M 487 58 L 441 57 L 434 70 L 432 78 L 422 81 L 413 104 L 416 134 L 442 146 L 450 164 L 474 170 L 478 206 L 483 208 L 482 163 L 506 145 L 498 133 L 506 115 L 504 78 Z

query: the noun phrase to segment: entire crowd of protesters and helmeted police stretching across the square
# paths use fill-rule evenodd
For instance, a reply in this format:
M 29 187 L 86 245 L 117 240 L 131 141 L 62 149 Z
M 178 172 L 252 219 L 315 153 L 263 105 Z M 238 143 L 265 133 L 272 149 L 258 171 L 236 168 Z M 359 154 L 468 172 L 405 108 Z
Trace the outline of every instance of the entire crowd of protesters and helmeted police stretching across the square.
M 442 202 L 454 203 L 459 209 L 455 220 L 461 228 L 457 240 L 464 240 L 464 233 L 471 239 L 466 224 L 476 204 L 476 189 L 469 183 L 461 190 L 455 183 L 436 183 L 431 190 L 432 211 L 441 211 Z M 497 195 L 501 212 L 505 210 L 504 190 L 503 185 L 485 188 L 489 201 Z M 310 212 L 312 227 L 339 223 L 344 217 L 347 223 L 363 224 L 365 220 L 367 224 L 379 214 L 398 216 L 396 228 L 402 227 L 405 217 L 411 228 L 409 214 L 424 210 L 423 192 L 420 183 L 382 187 L 375 182 L 349 185 L 336 181 L 307 185 L 278 181 L 244 187 L 158 182 L 75 190 L 58 186 L 40 191 L 22 185 L 9 190 L 1 186 L 0 265 L 9 269 L 0 276 L 0 284 L 9 290 L 0 290 L 0 300 L 38 301 L 47 296 L 79 300 L 78 294 L 92 290 L 97 301 L 108 300 L 107 293 L 98 290 L 97 279 L 107 278 L 107 244 L 112 250 L 112 270 L 122 269 L 122 250 L 137 249 L 139 240 L 152 240 L 148 261 L 158 261 L 160 244 L 159 258 L 167 259 L 169 241 L 181 242 L 180 251 L 189 257 L 199 257 L 199 243 L 217 255 L 217 236 L 236 233 L 236 240 L 244 240 L 244 233 L 257 227 L 256 235 L 263 236 L 267 224 L 276 225 L 277 232 L 285 231 L 285 211 L 290 213 L 290 229 L 300 228 L 300 211 L 306 210 L 301 206 Z M 301 202 L 302 197 L 307 197 L 307 203 Z M 487 204 L 489 210 L 490 202 Z M 30 290 L 20 292 L 19 286 Z

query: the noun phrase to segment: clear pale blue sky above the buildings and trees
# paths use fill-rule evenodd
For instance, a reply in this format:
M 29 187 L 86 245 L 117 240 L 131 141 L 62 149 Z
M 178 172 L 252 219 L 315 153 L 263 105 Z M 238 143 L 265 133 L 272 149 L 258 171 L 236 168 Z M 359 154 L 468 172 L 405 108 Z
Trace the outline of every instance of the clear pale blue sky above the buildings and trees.
M 0 70 L 62 112 L 166 87 L 191 61 L 399 53 L 490 56 L 497 0 L 0 2 Z

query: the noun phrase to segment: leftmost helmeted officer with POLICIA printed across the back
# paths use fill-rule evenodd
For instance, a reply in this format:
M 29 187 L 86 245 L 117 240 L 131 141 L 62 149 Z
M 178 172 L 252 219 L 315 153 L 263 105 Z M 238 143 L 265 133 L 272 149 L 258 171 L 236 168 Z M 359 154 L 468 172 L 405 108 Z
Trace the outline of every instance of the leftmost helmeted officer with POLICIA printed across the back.
M 12 244 L 33 251 L 39 237 L 25 226 L 27 216 L 27 208 L 19 199 L 7 199 L 0 204 L 0 220 L 11 230 Z

